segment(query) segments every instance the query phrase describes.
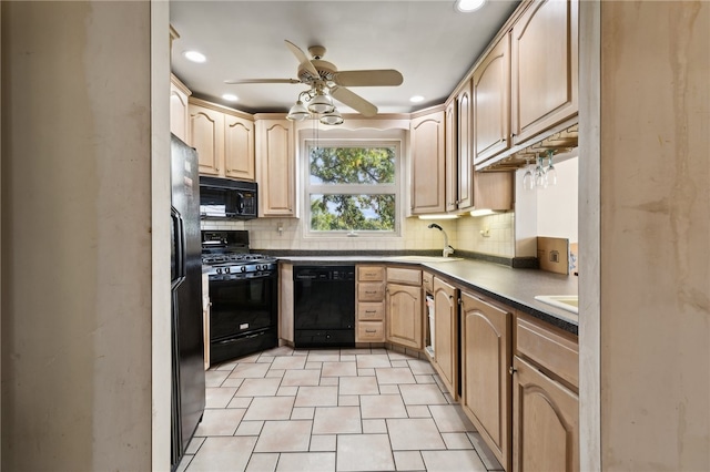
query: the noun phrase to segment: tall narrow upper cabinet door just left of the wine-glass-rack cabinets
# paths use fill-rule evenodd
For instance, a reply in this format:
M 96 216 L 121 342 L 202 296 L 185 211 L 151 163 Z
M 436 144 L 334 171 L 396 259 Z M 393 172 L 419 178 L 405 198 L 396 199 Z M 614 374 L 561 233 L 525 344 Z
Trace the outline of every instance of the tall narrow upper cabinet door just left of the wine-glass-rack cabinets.
M 456 115 L 458 116 L 458 209 L 474 206 L 474 130 L 471 124 L 471 82 L 456 95 Z

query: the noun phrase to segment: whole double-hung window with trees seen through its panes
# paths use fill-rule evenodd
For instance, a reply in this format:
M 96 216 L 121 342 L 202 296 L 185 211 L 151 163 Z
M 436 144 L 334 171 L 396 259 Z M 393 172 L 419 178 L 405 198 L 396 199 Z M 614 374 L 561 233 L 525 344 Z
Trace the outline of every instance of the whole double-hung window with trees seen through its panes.
M 305 141 L 311 236 L 399 232 L 398 141 Z

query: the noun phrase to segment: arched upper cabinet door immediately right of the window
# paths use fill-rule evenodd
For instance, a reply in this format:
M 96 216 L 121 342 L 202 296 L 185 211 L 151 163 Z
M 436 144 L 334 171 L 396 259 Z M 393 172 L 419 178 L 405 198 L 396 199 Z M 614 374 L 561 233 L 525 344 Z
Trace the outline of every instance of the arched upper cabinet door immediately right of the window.
M 445 205 L 444 112 L 412 120 L 412 214 L 443 213 Z

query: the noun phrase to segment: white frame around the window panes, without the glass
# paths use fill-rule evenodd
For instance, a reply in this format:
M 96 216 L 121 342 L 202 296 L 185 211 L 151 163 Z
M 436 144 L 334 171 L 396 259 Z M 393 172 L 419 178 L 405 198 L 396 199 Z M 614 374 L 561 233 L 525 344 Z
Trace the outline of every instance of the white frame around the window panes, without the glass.
M 354 133 L 361 135 L 361 133 Z M 402 238 L 402 225 L 403 225 L 403 170 L 404 170 L 404 143 L 402 137 L 312 137 L 304 136 L 301 140 L 301 168 L 303 170 L 303 237 L 304 238 Z M 310 148 L 315 145 L 322 147 L 377 147 L 377 146 L 394 146 L 395 147 L 395 183 L 382 184 L 377 187 L 383 187 L 382 191 L 372 192 L 373 185 L 363 184 L 344 184 L 344 185 L 314 185 L 311 184 L 311 168 L 310 168 Z M 338 191 L 342 188 L 342 191 Z M 394 191 L 394 192 L 393 192 Z M 316 232 L 311 229 L 311 194 L 390 194 L 395 195 L 395 228 L 392 232 L 384 230 L 332 230 L 332 232 Z

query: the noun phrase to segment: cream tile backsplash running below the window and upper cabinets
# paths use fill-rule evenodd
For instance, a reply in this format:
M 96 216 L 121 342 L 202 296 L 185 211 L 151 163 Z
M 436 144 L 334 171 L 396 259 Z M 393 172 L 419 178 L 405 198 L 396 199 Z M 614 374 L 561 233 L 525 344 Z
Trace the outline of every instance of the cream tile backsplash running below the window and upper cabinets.
M 433 250 L 444 248 L 442 232 L 428 228 L 430 223 L 436 223 L 444 228 L 449 244 L 455 249 L 514 257 L 514 219 L 513 212 L 442 220 L 405 218 L 400 237 L 304 237 L 304 220 L 300 218 L 257 218 L 248 222 L 203 220 L 202 229 L 248 229 L 251 247 L 254 249 Z

